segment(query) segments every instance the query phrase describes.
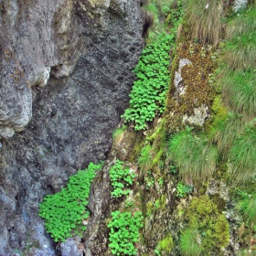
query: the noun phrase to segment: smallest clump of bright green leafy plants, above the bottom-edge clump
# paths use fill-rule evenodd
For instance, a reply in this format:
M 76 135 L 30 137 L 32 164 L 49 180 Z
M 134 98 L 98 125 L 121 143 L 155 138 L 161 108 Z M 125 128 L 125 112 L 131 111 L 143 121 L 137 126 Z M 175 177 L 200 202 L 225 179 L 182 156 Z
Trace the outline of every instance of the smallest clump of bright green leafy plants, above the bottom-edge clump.
M 112 197 L 123 197 L 130 193 L 130 187 L 133 185 L 135 174 L 127 166 L 123 167 L 123 161 L 116 160 L 115 165 L 110 168 L 110 178 L 113 190 Z

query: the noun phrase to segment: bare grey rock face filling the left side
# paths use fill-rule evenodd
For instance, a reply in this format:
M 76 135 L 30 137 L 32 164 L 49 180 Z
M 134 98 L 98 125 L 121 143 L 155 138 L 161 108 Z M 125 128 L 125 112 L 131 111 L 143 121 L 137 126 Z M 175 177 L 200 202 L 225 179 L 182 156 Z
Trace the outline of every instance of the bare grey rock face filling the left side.
M 58 255 L 38 203 L 108 155 L 144 45 L 140 5 L 0 0 L 1 256 Z

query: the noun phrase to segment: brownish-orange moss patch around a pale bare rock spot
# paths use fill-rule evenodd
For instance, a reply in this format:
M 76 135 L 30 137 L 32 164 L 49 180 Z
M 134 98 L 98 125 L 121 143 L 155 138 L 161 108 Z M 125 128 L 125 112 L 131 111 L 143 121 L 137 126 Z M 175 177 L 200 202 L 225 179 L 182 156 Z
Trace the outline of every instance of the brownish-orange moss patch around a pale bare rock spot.
M 210 106 L 214 90 L 208 83 L 209 74 L 216 69 L 216 61 L 211 58 L 212 52 L 199 44 L 180 44 L 176 48 L 177 62 L 189 59 L 192 65 L 185 66 L 181 71 L 186 92 L 176 95 L 176 88 L 171 86 L 167 94 L 166 127 L 168 133 L 180 130 L 185 126 L 182 117 L 194 114 L 194 109 L 201 105 Z M 175 64 L 176 66 L 176 64 Z M 172 72 L 174 73 L 175 70 Z M 174 79 L 174 74 L 172 75 Z

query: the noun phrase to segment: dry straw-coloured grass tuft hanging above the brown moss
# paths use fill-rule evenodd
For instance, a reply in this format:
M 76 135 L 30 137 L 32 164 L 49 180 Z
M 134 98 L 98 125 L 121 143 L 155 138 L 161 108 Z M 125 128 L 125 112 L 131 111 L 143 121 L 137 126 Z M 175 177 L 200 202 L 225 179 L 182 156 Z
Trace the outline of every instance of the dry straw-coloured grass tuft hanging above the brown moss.
M 187 24 L 191 37 L 202 44 L 217 46 L 223 27 L 222 0 L 189 0 Z

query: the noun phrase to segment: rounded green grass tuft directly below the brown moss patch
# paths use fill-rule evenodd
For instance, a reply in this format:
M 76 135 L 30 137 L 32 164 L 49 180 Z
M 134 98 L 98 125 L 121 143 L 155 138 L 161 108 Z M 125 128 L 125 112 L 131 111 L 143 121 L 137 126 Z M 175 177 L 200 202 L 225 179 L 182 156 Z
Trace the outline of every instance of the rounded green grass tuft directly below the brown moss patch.
M 218 150 L 208 142 L 204 134 L 199 136 L 187 127 L 176 133 L 168 142 L 171 160 L 184 179 L 202 180 L 212 176 L 216 169 Z

